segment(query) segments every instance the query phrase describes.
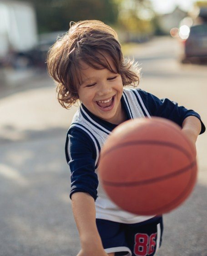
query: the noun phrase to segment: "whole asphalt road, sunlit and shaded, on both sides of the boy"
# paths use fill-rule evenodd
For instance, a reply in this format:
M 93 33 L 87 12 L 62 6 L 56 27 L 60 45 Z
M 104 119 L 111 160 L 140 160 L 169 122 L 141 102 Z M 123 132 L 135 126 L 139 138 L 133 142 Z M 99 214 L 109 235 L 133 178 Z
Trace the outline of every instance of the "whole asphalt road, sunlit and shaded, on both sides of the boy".
M 127 53 L 142 67 L 139 87 L 196 110 L 207 125 L 207 66 L 180 65 L 177 42 L 159 38 Z M 76 108 L 57 103 L 55 86 L 36 74 L 0 88 L 0 256 L 76 256 L 70 170 L 64 157 Z M 181 207 L 164 215 L 159 256 L 207 255 L 207 134 L 197 141 L 197 185 Z

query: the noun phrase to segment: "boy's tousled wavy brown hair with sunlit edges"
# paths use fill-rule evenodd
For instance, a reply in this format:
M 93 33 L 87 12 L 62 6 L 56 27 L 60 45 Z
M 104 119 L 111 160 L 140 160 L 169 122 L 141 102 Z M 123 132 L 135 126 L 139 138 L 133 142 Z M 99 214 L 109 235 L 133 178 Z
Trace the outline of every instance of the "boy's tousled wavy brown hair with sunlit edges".
M 111 57 L 116 70 L 111 68 L 105 54 Z M 92 68 L 119 73 L 124 86 L 139 83 L 138 64 L 124 59 L 117 34 L 110 26 L 96 20 L 71 22 L 69 31 L 47 54 L 48 73 L 57 83 L 58 101 L 64 108 L 70 108 L 79 99 L 80 61 Z

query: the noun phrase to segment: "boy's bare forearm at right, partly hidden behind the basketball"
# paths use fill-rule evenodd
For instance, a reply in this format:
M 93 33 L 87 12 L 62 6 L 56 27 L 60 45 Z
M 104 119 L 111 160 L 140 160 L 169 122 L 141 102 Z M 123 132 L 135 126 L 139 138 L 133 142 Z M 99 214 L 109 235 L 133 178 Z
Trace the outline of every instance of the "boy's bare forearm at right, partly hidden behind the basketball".
M 192 142 L 192 145 L 196 151 L 197 136 L 201 132 L 201 121 L 196 116 L 188 116 L 183 120 L 182 132 L 184 132 L 189 141 Z

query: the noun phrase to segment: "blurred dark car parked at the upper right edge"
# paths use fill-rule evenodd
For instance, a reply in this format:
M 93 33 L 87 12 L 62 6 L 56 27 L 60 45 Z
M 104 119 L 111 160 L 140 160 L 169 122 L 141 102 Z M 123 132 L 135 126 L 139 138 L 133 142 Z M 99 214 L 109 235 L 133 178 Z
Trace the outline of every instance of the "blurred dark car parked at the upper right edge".
M 190 27 L 189 36 L 182 44 L 182 63 L 207 61 L 207 23 Z

